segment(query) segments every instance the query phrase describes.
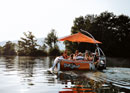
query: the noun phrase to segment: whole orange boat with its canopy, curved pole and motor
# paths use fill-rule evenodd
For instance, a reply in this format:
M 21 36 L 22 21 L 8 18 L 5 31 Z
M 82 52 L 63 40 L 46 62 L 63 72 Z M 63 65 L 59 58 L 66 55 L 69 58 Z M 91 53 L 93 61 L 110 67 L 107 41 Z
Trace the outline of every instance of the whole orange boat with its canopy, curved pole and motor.
M 106 57 L 102 49 L 98 46 L 98 43 L 101 43 L 88 33 L 87 31 L 81 30 L 82 32 L 87 33 L 90 37 L 82 34 L 82 33 L 76 33 L 67 37 L 64 37 L 62 39 L 59 39 L 59 41 L 72 41 L 72 42 L 87 42 L 87 43 L 93 43 L 96 45 L 95 49 L 95 55 L 93 60 L 86 61 L 86 60 L 68 60 L 68 59 L 58 59 L 57 64 L 53 65 L 53 68 L 57 66 L 58 71 L 62 70 L 103 70 L 106 69 Z M 98 59 L 99 62 L 95 64 L 95 57 L 96 52 L 98 53 Z

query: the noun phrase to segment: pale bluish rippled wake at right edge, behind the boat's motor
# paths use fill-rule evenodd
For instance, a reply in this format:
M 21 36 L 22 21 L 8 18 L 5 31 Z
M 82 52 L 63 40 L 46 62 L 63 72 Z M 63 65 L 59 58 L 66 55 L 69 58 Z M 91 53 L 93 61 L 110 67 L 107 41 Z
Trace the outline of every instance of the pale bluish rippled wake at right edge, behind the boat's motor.
M 107 82 L 121 88 L 130 88 L 130 68 L 108 68 L 103 72 L 107 76 Z

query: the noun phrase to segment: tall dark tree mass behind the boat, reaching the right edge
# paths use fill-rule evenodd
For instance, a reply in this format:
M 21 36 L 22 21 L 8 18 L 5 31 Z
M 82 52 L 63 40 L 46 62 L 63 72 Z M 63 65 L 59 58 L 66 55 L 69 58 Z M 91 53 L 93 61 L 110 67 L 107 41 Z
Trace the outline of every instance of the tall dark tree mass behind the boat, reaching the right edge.
M 113 13 L 103 12 L 100 15 L 87 15 L 76 18 L 71 28 L 74 34 L 80 29 L 90 32 L 95 39 L 101 41 L 100 45 L 108 56 L 130 55 L 130 17 L 126 15 L 116 16 Z M 85 34 L 85 33 L 84 33 Z M 65 42 L 66 48 L 80 51 L 93 50 L 93 44 Z

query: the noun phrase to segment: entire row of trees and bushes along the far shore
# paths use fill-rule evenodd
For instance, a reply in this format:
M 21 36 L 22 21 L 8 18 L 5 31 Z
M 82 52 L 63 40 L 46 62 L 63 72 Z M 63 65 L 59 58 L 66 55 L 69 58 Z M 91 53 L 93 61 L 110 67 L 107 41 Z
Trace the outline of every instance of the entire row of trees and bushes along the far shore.
M 130 57 L 129 16 L 115 15 L 107 11 L 102 12 L 100 15 L 80 16 L 74 19 L 71 34 L 79 32 L 80 29 L 88 31 L 96 40 L 102 42 L 99 46 L 106 56 Z M 32 32 L 28 31 L 23 34 L 24 37 L 21 37 L 18 43 L 7 41 L 4 46 L 0 46 L 0 55 L 58 56 L 63 52 L 57 45 L 58 37 L 55 29 L 48 33 L 42 46 L 37 44 L 37 39 Z M 64 44 L 69 54 L 74 53 L 77 49 L 80 52 L 85 52 L 85 50 L 93 51 L 93 46 L 95 46 L 89 43 L 69 41 L 65 41 Z

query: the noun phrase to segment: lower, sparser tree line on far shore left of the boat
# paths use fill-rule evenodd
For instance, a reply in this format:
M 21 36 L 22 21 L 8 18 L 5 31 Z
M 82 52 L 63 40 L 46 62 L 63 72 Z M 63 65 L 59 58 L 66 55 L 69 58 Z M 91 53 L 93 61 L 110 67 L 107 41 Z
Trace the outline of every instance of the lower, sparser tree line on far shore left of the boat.
M 18 40 L 18 43 L 7 41 L 4 46 L 0 46 L 0 55 L 18 55 L 18 56 L 57 56 L 60 55 L 60 49 L 57 45 L 58 37 L 54 29 L 48 33 L 43 40 L 43 45 L 37 44 L 36 37 L 32 32 L 24 32 L 24 37 Z

